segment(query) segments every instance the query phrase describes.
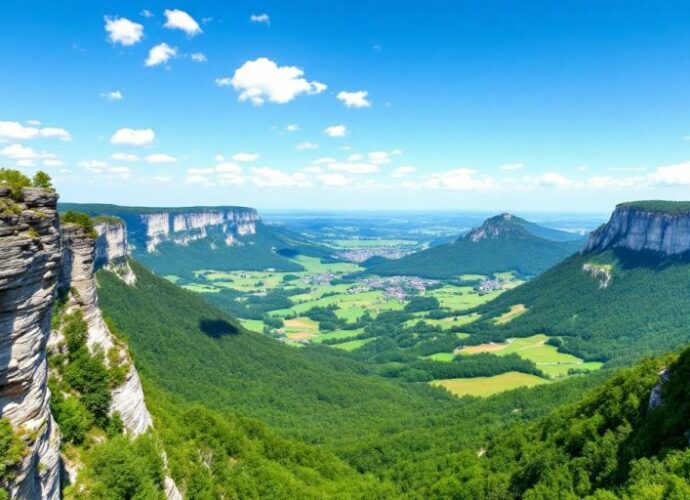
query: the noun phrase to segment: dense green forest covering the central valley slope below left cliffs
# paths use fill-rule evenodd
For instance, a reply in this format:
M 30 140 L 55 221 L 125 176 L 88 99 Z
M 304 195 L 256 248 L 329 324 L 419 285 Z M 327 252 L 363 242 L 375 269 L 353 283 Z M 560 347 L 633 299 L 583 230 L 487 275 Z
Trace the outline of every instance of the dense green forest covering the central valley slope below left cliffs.
M 367 491 L 394 488 L 394 494 L 383 496 L 422 498 L 441 491 L 449 475 L 460 473 L 468 454 L 475 454 L 498 430 L 573 401 L 607 375 L 602 371 L 485 400 L 458 399 L 424 383 L 383 378 L 369 364 L 334 349 L 288 347 L 247 332 L 198 295 L 136 263 L 133 267 L 138 276 L 134 287 L 109 272 L 99 272 L 101 307 L 118 336 L 130 345 L 154 419 L 172 418 L 166 416 L 172 413 L 178 422 L 157 428 L 164 442 L 176 443 L 170 446 L 171 467 L 182 484 L 191 481 L 190 457 L 198 456 L 184 451 L 185 446 L 200 446 L 210 439 L 225 447 L 226 455 L 219 456 L 234 457 L 233 441 L 226 443 L 229 438 L 218 422 L 227 422 L 223 429 L 255 436 L 251 429 L 258 424 L 251 422 L 260 419 L 272 429 L 267 435 L 275 432 L 275 439 L 280 436 L 302 451 L 274 455 L 257 443 L 257 450 L 265 453 L 257 460 L 277 460 L 289 469 L 305 453 L 317 457 L 308 462 L 314 468 L 317 462 L 333 461 L 328 473 L 333 481 L 340 474 L 334 471 L 342 469 L 348 477 L 351 469 L 359 474 L 352 479 L 352 488 L 365 484 Z M 197 422 L 203 419 L 194 413 L 200 407 L 211 413 L 203 417 L 210 422 L 203 432 L 197 431 Z M 187 411 L 193 416 L 185 417 Z M 249 422 L 249 427 L 242 430 L 242 422 Z M 213 434 L 216 428 L 218 433 Z M 187 444 L 178 448 L 181 442 Z M 176 449 L 183 451 L 173 456 Z M 239 488 L 233 482 L 239 480 L 238 472 L 223 470 L 227 484 Z M 326 474 L 319 471 L 314 481 Z M 369 483 L 371 478 L 376 486 Z M 214 476 L 211 482 L 215 481 Z M 338 487 L 335 483 L 332 491 Z M 270 484 L 266 487 L 279 486 Z M 324 483 L 321 491 L 331 491 L 331 486 Z

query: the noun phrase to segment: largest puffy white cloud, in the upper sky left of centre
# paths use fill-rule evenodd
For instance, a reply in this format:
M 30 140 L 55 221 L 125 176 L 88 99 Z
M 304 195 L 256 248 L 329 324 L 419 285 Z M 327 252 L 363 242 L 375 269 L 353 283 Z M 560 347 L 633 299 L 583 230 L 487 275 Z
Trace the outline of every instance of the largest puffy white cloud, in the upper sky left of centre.
M 265 57 L 247 61 L 237 70 L 230 84 L 239 92 L 240 101 L 251 101 L 256 106 L 264 102 L 285 104 L 300 94 L 319 94 L 326 85 L 307 81 L 304 71 L 296 66 L 278 66 Z M 226 86 L 227 79 L 216 80 L 216 85 Z

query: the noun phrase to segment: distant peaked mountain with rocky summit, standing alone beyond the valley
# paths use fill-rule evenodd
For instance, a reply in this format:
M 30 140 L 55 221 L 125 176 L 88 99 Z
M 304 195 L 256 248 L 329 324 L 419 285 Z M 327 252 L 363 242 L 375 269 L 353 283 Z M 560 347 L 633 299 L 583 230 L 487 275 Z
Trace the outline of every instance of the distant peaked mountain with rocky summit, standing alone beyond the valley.
M 427 278 L 502 271 L 536 275 L 579 250 L 582 242 L 578 234 L 550 229 L 506 213 L 487 219 L 452 243 L 397 260 L 371 262 L 368 272 Z

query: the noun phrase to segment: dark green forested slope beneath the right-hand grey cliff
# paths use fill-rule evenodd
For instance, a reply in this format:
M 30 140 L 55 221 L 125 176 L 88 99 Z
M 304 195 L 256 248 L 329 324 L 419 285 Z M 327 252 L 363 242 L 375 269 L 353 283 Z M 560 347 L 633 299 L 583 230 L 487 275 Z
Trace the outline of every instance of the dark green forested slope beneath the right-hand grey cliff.
M 587 271 L 593 266 L 604 274 Z M 592 267 L 590 267 L 591 269 Z M 604 286 L 606 284 L 606 286 Z M 690 264 L 625 251 L 575 255 L 481 307 L 468 343 L 546 333 L 561 351 L 621 365 L 690 342 Z M 511 305 L 527 312 L 496 324 Z

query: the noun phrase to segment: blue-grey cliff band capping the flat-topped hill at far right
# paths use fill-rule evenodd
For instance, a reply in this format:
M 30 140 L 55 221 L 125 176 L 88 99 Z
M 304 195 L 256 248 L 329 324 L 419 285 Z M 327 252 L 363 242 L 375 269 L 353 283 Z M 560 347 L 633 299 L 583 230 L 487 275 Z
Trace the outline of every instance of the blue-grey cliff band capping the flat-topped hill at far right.
M 690 251 L 690 214 L 618 205 L 611 219 L 594 231 L 583 253 L 623 248 L 667 256 Z

